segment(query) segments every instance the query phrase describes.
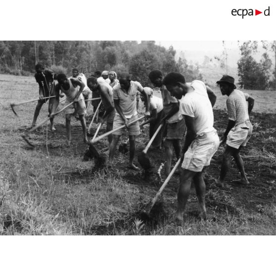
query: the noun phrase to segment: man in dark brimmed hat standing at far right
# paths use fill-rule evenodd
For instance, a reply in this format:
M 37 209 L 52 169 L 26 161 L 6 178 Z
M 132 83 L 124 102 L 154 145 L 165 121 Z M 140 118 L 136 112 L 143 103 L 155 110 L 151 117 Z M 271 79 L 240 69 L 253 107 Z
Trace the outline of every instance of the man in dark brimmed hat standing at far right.
M 252 135 L 252 125 L 249 120 L 249 114 L 254 106 L 254 98 L 247 93 L 237 90 L 234 85 L 234 78 L 228 75 L 224 75 L 217 84 L 222 94 L 228 95 L 226 104 L 229 114 L 228 126 L 221 139 L 222 143 L 226 142 L 226 149 L 223 155 L 221 174 L 217 184 L 221 187 L 225 186 L 225 179 L 230 168 L 231 156 L 233 156 L 240 172 L 240 183 L 249 184 L 239 151 L 241 146 L 246 145 Z M 248 107 L 246 101 L 248 101 Z

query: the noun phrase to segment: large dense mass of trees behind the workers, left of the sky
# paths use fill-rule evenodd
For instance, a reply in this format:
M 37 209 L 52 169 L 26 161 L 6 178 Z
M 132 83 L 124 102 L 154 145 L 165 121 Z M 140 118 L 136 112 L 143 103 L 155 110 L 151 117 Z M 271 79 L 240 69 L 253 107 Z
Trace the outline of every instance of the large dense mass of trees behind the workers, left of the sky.
M 166 49 L 155 41 L 0 41 L 0 71 L 28 75 L 40 62 L 68 73 L 77 67 L 87 76 L 96 70 L 128 71 L 143 86 L 149 85 L 147 75 L 156 68 L 164 74 L 181 72 L 188 81 L 202 79 L 198 68 L 185 58 L 176 61 L 175 55 L 173 46 Z

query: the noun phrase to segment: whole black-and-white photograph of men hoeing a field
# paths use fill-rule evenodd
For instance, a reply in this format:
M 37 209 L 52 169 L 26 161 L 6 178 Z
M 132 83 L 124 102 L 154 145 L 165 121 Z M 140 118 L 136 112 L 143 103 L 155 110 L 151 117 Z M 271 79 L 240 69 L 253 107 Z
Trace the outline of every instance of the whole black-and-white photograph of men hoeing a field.
M 0 235 L 275 235 L 276 41 L 0 41 Z

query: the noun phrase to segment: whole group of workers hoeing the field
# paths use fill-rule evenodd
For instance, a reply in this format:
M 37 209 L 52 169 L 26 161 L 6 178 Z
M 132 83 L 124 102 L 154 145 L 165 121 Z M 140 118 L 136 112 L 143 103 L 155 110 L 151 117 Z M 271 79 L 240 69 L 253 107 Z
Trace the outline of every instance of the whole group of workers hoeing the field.
M 128 167 L 130 169 L 138 170 L 134 157 L 136 137 L 140 134 L 140 128 L 149 124 L 149 138 L 151 138 L 157 128 L 162 125 L 152 147 L 161 149 L 164 144 L 167 176 L 171 172 L 173 150 L 176 157 L 181 159 L 178 207 L 175 213 L 177 220 L 184 220 L 184 210 L 192 180 L 200 206 L 200 216 L 207 218 L 203 170 L 204 167 L 210 165 L 221 143 L 226 142 L 226 148 L 217 185 L 225 186 L 231 156 L 239 169 L 240 183 L 249 184 L 239 151 L 242 146 L 246 145 L 252 134 L 249 114 L 253 108 L 254 99 L 247 93 L 237 90 L 234 79 L 228 75 L 224 75 L 217 82 L 222 94 L 228 96 L 229 121 L 221 139 L 213 127 L 215 93 L 202 81 L 194 80 L 187 83 L 184 76 L 178 72 L 168 73 L 165 77 L 160 70 L 152 70 L 149 73 L 148 78 L 153 87 L 161 92 L 161 97 L 154 95 L 152 88 L 142 87 L 139 82 L 133 81 L 127 72 L 121 73 L 117 78 L 114 71 L 96 71 L 86 79 L 84 74 L 74 68 L 72 77 L 68 78 L 63 73 L 56 76 L 51 70 L 45 70 L 42 64 L 37 64 L 35 78 L 39 84 L 40 100 L 35 110 L 32 127 L 35 126 L 40 109 L 47 101 L 47 97 L 55 95 L 49 98 L 51 130 L 55 131 L 53 112 L 58 106 L 60 92 L 63 92 L 66 96 L 65 104 L 72 103 L 65 109 L 68 144 L 71 143 L 70 122 L 73 114 L 78 114 L 84 142 L 88 143 L 86 113 L 92 102 L 93 111 L 98 109 L 99 112 L 98 122 L 106 123 L 106 132 L 121 126 L 126 127 L 129 135 Z M 93 98 L 100 99 L 92 100 Z M 144 102 L 145 106 L 145 120 L 141 124 L 138 121 L 139 99 Z M 101 108 L 98 106 L 100 101 Z M 113 165 L 116 145 L 122 132 L 123 130 L 119 129 L 108 136 L 108 166 Z

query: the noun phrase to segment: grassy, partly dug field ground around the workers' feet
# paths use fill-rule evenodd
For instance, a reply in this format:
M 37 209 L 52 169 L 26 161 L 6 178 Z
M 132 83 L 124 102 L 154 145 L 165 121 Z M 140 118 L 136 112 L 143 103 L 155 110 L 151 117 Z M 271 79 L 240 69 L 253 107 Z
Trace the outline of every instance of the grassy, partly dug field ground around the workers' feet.
M 215 128 L 222 133 L 227 125 L 226 97 L 217 87 L 214 90 L 218 95 Z M 198 218 L 192 187 L 186 222 L 179 225 L 172 218 L 178 176 L 165 188 L 152 218 L 144 217 L 144 207 L 162 184 L 157 174 L 144 180 L 141 172 L 126 169 L 128 154 L 119 152 L 114 171 L 92 173 L 93 161 L 83 161 L 86 145 L 81 125 L 75 120 L 72 145 L 66 145 L 64 114 L 55 118 L 54 135 L 44 126 L 31 135 L 35 147 L 30 147 L 21 135 L 31 125 L 36 103 L 16 107 L 19 118 L 9 103 L 37 97 L 35 79 L 0 75 L 0 234 L 275 235 L 276 92 L 249 93 L 255 98 L 251 116 L 254 134 L 242 157 L 250 184 L 235 182 L 239 174 L 232 162 L 227 187 L 215 185 L 224 150 L 220 147 L 205 172 L 206 205 L 211 219 Z M 46 110 L 44 105 L 38 123 L 46 118 Z M 101 129 L 100 134 L 103 132 Z M 147 137 L 144 128 L 138 137 L 137 154 Z M 106 145 L 104 140 L 96 147 Z M 157 167 L 164 161 L 164 150 L 150 151 L 149 155 Z

